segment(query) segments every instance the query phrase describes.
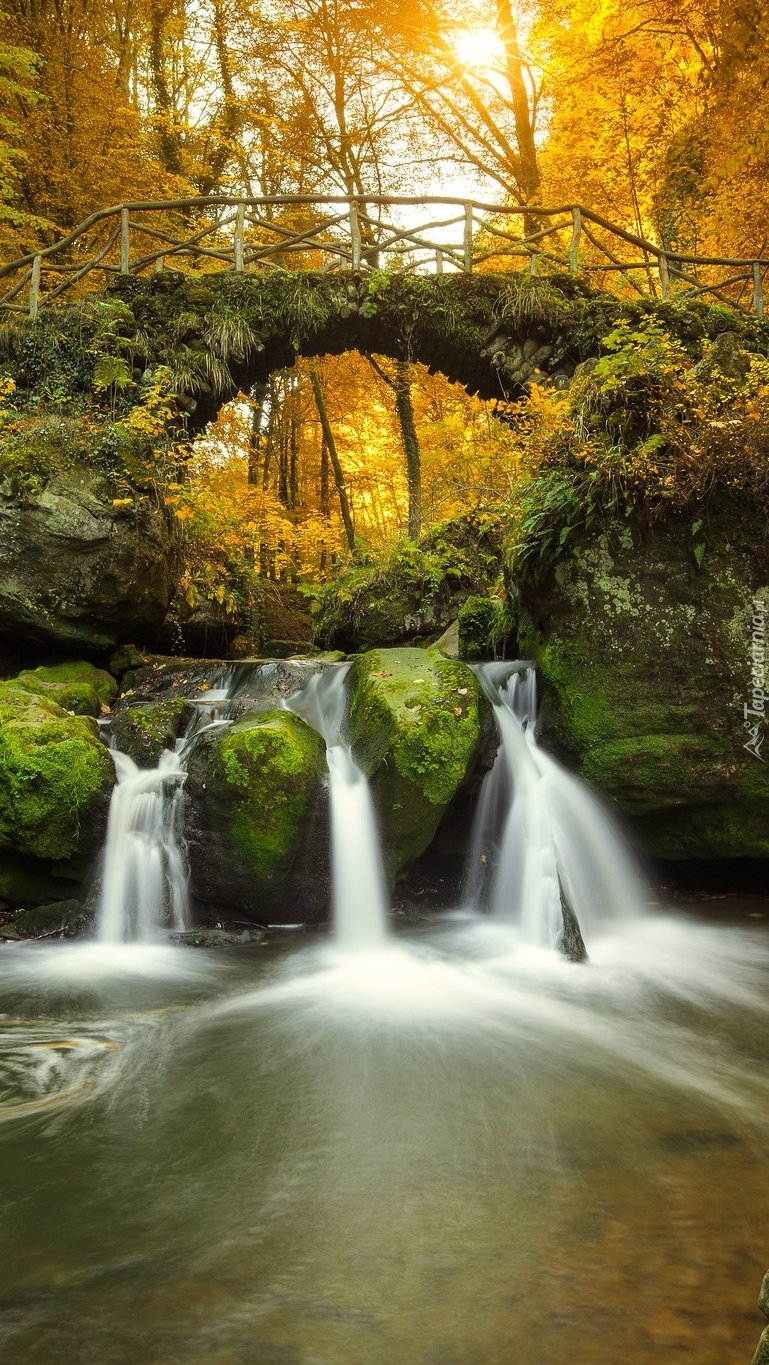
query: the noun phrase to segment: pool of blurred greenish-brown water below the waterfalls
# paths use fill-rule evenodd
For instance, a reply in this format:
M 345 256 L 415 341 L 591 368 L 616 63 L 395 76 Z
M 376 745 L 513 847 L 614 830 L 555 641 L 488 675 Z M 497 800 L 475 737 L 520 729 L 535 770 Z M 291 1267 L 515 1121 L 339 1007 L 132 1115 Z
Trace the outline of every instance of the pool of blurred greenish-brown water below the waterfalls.
M 749 1365 L 769 936 L 0 950 L 15 1365 Z

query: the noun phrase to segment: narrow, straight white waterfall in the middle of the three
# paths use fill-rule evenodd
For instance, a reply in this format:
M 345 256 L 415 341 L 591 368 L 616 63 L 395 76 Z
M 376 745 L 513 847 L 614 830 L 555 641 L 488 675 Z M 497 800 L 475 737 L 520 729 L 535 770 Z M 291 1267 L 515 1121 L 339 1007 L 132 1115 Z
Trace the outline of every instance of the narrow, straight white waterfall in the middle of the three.
M 285 706 L 322 734 L 331 796 L 333 924 L 347 951 L 376 951 L 387 938 L 387 894 L 372 793 L 341 737 L 350 665 L 325 669 Z

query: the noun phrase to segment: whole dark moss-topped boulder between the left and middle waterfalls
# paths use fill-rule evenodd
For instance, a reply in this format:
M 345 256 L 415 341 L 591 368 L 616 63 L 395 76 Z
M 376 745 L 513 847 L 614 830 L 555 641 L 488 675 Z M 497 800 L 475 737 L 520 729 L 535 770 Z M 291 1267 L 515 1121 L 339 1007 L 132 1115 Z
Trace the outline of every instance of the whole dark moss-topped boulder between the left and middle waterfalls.
M 193 895 L 264 923 L 325 917 L 325 745 L 290 711 L 204 736 L 188 764 Z

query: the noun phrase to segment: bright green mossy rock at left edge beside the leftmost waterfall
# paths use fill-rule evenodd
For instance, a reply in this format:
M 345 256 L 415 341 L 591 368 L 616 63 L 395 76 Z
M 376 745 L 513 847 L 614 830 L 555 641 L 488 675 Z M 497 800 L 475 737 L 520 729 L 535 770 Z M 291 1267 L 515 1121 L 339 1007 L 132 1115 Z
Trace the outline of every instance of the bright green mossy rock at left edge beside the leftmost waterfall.
M 115 781 L 90 717 L 0 684 L 0 848 L 70 859 L 93 846 L 93 816 Z

